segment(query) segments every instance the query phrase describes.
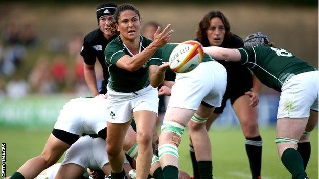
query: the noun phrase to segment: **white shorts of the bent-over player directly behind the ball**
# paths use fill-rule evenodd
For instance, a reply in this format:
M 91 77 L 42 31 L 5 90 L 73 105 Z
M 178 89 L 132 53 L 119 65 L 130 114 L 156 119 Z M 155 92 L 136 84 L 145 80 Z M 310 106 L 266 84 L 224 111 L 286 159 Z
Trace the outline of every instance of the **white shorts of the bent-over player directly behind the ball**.
M 190 72 L 177 73 L 168 107 L 197 110 L 201 101 L 220 107 L 226 86 L 226 69 L 216 61 L 202 62 Z

